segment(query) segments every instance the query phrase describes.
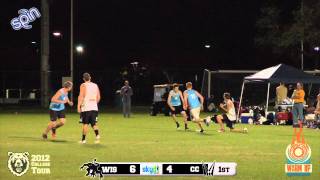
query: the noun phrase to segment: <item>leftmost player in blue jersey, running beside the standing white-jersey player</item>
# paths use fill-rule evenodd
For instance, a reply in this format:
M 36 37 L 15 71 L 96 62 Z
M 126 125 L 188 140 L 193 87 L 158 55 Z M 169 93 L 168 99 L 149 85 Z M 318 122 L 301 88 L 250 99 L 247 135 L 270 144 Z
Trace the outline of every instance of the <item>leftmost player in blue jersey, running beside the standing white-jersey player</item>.
M 66 123 L 66 115 L 64 112 L 65 103 L 68 103 L 70 106 L 73 106 L 68 98 L 68 92 L 72 89 L 72 82 L 67 81 L 63 84 L 63 88 L 59 89 L 56 94 L 51 98 L 50 102 L 50 122 L 47 128 L 42 133 L 43 139 L 48 139 L 48 132 L 52 130 L 52 139 L 56 138 L 56 130 L 63 126 Z M 59 120 L 57 122 L 57 120 Z

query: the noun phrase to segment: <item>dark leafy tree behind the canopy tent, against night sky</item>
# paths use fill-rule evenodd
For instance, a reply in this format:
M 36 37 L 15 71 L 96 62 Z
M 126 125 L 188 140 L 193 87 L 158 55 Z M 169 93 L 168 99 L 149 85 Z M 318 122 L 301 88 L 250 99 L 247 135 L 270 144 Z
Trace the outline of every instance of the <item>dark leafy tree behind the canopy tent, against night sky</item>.
M 312 51 L 320 44 L 320 1 L 301 0 L 287 17 L 279 6 L 277 1 L 269 0 L 261 8 L 255 44 L 258 48 L 267 48 L 276 58 L 285 56 L 295 62 L 299 61 L 300 53 L 303 68 L 305 55 L 316 61 Z

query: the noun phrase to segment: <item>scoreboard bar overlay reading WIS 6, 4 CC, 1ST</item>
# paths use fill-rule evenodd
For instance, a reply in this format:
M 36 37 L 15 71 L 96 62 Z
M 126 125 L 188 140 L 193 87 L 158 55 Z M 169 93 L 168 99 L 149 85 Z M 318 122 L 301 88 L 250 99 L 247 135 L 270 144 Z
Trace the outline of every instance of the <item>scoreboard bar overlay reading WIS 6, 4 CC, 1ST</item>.
M 95 161 L 94 163 L 97 167 L 96 173 L 100 176 L 234 176 L 237 167 L 234 162 Z M 89 172 L 90 169 L 87 171 Z

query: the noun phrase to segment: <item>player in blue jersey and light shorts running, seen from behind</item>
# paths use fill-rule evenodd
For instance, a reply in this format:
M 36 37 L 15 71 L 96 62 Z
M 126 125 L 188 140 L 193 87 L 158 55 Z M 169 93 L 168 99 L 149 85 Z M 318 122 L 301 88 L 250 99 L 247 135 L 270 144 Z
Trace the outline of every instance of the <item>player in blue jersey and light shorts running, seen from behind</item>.
M 187 90 L 183 92 L 185 102 L 184 109 L 187 110 L 187 108 L 189 107 L 192 121 L 198 124 L 198 126 L 200 127 L 200 132 L 203 133 L 204 130 L 202 128 L 201 122 L 206 123 L 207 126 L 209 125 L 209 121 L 207 119 L 200 119 L 200 111 L 203 110 L 204 98 L 198 91 L 192 89 L 191 82 L 187 82 L 186 87 Z

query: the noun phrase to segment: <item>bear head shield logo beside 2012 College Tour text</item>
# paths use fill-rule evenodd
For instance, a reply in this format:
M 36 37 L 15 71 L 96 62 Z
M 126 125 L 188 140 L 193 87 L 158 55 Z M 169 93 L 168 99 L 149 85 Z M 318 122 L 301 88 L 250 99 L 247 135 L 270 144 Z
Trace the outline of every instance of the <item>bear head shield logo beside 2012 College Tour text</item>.
M 22 176 L 29 169 L 29 153 L 14 153 L 8 152 L 8 168 L 12 174 Z

